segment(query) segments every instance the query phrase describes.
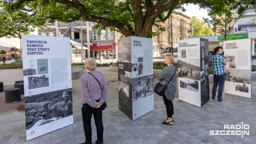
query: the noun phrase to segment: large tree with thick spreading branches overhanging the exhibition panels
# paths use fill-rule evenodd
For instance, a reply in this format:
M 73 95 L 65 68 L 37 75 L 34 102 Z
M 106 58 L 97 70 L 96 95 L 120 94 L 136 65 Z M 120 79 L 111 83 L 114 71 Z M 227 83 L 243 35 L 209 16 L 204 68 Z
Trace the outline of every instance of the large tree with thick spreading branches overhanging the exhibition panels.
M 97 22 L 98 28 L 109 26 L 124 36 L 151 38 L 156 20 L 166 20 L 182 4 L 199 4 L 201 8 L 223 10 L 227 2 L 236 7 L 248 6 L 251 0 L 1 0 L 6 12 L 24 12 L 34 20 Z M 221 3 L 221 4 L 220 4 Z M 234 8 L 236 8 L 234 7 Z M 39 24 L 40 25 L 40 24 Z

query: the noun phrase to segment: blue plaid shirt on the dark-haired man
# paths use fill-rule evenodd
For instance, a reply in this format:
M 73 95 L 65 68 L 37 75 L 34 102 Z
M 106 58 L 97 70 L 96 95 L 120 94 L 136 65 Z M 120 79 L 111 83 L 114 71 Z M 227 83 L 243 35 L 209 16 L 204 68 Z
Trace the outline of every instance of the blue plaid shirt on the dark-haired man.
M 213 74 L 220 75 L 225 72 L 222 62 L 225 62 L 225 60 L 219 54 L 212 56 Z

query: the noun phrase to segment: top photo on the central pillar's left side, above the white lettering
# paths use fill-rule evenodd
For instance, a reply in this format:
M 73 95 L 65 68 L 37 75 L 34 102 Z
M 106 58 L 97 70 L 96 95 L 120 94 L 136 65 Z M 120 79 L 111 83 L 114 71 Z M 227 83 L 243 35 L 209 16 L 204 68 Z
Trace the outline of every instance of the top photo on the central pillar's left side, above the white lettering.
M 118 40 L 118 62 L 132 62 L 132 45 L 131 39 L 127 38 L 127 41 Z

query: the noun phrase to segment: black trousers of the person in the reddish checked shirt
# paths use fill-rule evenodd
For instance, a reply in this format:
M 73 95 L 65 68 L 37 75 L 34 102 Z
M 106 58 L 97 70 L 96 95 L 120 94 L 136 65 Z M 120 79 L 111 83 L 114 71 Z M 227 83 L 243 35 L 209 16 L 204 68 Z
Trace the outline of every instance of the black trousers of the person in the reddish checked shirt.
M 102 123 L 102 108 L 82 108 L 82 118 L 84 124 L 84 134 L 85 134 L 85 143 L 92 142 L 92 126 L 91 119 L 92 114 L 94 116 L 94 121 L 97 130 L 97 141 L 103 142 L 103 123 Z

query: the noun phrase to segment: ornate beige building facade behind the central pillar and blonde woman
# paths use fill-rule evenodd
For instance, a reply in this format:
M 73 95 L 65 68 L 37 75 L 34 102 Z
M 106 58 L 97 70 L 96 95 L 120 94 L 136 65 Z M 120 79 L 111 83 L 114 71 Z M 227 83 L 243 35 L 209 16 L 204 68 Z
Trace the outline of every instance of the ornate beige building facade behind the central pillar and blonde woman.
M 158 32 L 159 34 L 153 37 L 154 56 L 160 56 L 161 47 L 168 47 L 171 46 L 171 44 L 177 46 L 178 40 L 188 39 L 192 31 L 190 17 L 176 11 L 172 13 L 165 23 L 162 23 L 162 26 L 166 28 L 165 32 L 160 32 L 156 27 L 153 27 L 153 32 Z

